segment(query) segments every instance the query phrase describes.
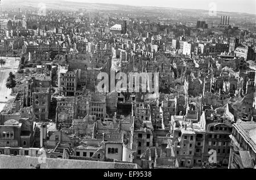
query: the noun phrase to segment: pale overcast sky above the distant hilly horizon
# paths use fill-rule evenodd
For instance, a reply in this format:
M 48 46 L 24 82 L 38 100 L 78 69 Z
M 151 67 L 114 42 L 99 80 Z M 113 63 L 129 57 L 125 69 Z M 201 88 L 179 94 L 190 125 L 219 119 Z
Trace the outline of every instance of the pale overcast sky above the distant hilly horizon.
M 209 10 L 212 2 L 217 11 L 256 14 L 256 0 L 65 0 L 72 2 L 112 3 L 133 6 L 158 6 Z

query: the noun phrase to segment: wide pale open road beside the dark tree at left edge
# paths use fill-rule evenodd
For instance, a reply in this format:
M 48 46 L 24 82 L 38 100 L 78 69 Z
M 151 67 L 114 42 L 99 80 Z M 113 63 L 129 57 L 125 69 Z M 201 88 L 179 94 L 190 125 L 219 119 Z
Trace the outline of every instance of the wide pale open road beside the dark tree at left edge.
M 10 96 L 11 89 L 6 88 L 6 80 L 9 76 L 10 72 L 15 73 L 19 66 L 19 58 L 14 57 L 0 57 L 2 59 L 5 59 L 5 65 L 1 67 L 0 65 L 0 112 L 2 111 L 3 107 L 5 107 L 6 102 L 13 98 L 13 96 Z M 7 97 L 7 98 L 6 98 Z

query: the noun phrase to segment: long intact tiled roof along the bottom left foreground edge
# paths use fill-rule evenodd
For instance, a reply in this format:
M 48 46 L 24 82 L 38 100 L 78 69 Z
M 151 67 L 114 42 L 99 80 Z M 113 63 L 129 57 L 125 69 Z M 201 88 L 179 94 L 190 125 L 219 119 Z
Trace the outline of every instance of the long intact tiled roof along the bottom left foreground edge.
M 46 163 L 40 164 L 39 157 L 0 155 L 0 169 L 31 169 L 38 164 L 40 164 L 40 169 L 138 169 L 140 168 L 137 164 L 132 164 L 132 163 L 71 160 L 71 159 L 60 159 L 60 158 L 46 158 L 45 162 Z

